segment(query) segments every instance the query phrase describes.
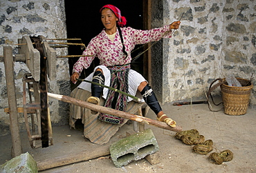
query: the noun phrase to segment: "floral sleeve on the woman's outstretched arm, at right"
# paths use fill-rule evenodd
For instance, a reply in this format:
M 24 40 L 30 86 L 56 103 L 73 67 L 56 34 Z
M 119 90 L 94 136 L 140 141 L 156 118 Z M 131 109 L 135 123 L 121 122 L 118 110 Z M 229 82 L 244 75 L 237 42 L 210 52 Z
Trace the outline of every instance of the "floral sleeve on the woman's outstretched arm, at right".
M 136 44 L 145 44 L 150 41 L 158 41 L 162 38 L 171 38 L 172 30 L 170 26 L 163 26 L 161 28 L 154 28 L 152 30 L 135 30 L 132 29 Z

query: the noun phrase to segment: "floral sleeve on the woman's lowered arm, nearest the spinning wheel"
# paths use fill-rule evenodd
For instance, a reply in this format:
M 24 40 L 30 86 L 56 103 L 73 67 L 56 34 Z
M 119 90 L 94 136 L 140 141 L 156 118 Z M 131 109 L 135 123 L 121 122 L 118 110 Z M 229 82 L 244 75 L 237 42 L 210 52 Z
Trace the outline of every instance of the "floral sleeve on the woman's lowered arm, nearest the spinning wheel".
M 83 69 L 89 68 L 91 65 L 91 62 L 95 58 L 95 55 L 97 54 L 97 46 L 95 46 L 95 39 L 92 39 L 82 55 L 89 55 L 89 56 L 84 56 L 80 57 L 78 61 L 74 64 L 73 66 L 73 73 L 77 72 L 79 75 L 81 74 Z

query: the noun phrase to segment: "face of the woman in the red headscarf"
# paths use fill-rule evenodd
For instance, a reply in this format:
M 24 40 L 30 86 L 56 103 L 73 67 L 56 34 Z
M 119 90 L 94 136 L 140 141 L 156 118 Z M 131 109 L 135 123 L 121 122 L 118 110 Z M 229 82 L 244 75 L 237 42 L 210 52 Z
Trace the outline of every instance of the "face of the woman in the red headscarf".
M 104 8 L 102 10 L 101 21 L 106 30 L 111 30 L 113 28 L 116 30 L 116 21 L 118 21 L 118 18 L 109 8 Z

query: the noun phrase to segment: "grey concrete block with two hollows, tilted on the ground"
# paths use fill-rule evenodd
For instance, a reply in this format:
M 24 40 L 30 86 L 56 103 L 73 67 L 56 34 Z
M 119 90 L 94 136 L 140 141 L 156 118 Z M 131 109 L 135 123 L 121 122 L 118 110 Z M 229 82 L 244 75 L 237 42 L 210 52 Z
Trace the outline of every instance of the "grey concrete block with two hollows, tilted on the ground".
M 127 165 L 131 161 L 138 161 L 159 150 L 158 143 L 151 129 L 131 134 L 110 148 L 111 159 L 116 167 Z

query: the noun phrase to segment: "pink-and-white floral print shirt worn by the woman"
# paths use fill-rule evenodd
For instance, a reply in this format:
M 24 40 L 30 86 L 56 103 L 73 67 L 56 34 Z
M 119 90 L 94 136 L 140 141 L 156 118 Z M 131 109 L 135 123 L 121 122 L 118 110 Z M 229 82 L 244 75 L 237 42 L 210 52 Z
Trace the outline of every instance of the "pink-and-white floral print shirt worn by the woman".
M 118 30 L 113 42 L 107 36 L 105 30 L 91 39 L 89 45 L 86 47 L 83 55 L 90 55 L 90 57 L 80 57 L 73 67 L 73 72 L 80 74 L 83 68 L 89 68 L 91 62 L 95 57 L 100 60 L 100 65 L 125 65 L 131 63 L 131 50 L 136 44 L 144 44 L 150 41 L 158 41 L 161 38 L 172 37 L 172 30 L 170 26 L 162 28 L 154 28 L 152 30 L 136 30 L 131 27 L 121 28 L 122 37 L 125 44 L 126 55 L 122 52 L 122 42 Z

